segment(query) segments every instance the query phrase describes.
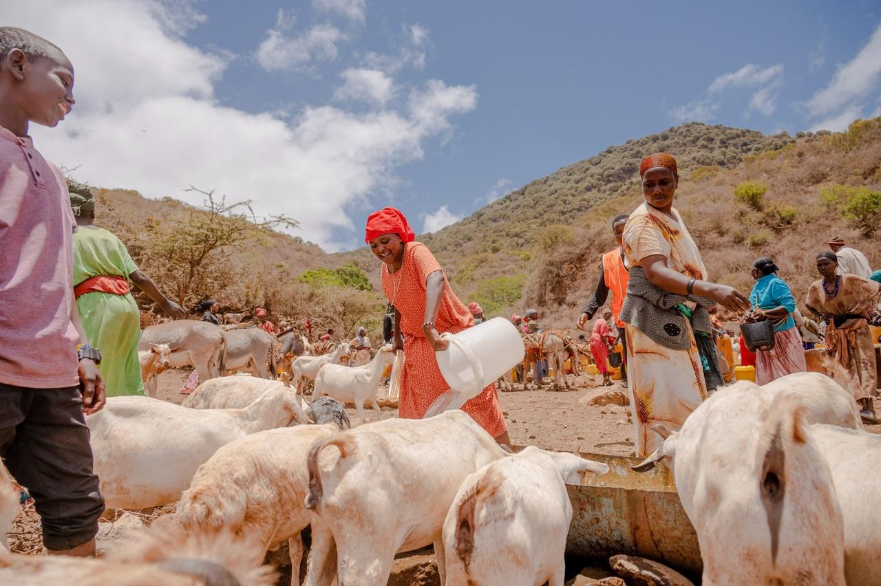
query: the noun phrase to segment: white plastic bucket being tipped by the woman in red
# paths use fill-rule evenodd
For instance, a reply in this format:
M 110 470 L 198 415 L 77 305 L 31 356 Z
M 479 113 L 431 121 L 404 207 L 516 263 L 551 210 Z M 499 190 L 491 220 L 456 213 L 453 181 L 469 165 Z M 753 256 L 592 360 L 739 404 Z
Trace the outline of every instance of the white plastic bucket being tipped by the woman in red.
M 520 332 L 505 318 L 488 319 L 459 333 L 442 333 L 441 338 L 449 348 L 435 356 L 449 391 L 434 399 L 425 417 L 462 407 L 526 355 Z

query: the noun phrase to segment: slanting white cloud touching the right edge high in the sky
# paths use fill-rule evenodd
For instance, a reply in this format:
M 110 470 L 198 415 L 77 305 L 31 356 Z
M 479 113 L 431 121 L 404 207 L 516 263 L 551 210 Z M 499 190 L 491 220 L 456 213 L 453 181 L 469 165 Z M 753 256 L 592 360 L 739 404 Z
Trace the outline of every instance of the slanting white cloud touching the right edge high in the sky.
M 835 72 L 832 81 L 808 100 L 808 111 L 813 116 L 822 116 L 856 100 L 864 99 L 877 86 L 879 78 L 881 78 L 881 25 L 878 25 L 872 33 L 866 46 Z

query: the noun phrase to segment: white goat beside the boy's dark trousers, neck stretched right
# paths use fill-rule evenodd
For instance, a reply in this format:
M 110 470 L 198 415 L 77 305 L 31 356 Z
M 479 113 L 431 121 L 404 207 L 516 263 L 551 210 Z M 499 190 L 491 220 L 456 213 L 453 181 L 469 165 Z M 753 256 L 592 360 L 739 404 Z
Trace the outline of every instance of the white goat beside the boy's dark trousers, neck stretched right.
M 220 446 L 296 421 L 308 420 L 290 393 L 266 393 L 244 409 L 188 409 L 149 397 L 111 397 L 85 420 L 94 472 L 110 509 L 175 502 Z

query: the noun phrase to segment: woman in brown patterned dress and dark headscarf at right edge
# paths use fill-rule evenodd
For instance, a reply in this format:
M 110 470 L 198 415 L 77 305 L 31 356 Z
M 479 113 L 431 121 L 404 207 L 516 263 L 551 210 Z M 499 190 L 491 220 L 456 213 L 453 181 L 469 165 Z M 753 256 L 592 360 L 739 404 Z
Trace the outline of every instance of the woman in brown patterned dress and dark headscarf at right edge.
M 823 278 L 811 284 L 805 303 L 828 323 L 825 351 L 848 370 L 848 380 L 840 383 L 854 393 L 862 418 L 875 422 L 875 345 L 866 316 L 877 305 L 881 286 L 860 276 L 838 275 L 838 257 L 828 251 L 819 253 L 817 272 Z

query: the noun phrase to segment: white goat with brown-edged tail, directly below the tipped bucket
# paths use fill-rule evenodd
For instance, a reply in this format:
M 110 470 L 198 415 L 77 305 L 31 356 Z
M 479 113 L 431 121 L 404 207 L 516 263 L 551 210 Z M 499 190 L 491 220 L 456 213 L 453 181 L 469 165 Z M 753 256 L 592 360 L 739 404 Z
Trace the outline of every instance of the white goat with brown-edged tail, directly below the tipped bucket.
M 324 450 L 334 446 L 337 450 Z M 443 521 L 471 472 L 507 455 L 462 411 L 387 419 L 309 452 L 312 553 L 307 584 L 382 586 L 397 552 L 434 544 L 444 583 Z

